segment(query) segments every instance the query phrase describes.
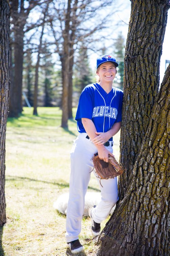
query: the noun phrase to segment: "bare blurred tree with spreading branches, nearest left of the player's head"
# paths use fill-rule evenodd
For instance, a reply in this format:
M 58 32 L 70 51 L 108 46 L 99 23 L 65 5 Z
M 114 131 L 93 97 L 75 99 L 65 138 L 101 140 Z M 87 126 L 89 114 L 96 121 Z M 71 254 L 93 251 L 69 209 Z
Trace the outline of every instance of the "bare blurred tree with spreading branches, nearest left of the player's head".
M 72 117 L 72 67 L 75 48 L 80 42 L 100 40 L 92 38 L 95 32 L 106 28 L 106 22 L 100 19 L 95 23 L 95 14 L 113 3 L 113 1 L 68 0 L 54 5 L 52 30 L 55 38 L 56 51 L 62 63 L 63 97 L 62 97 L 62 127 L 68 127 L 68 118 Z M 116 8 L 115 10 L 116 11 Z M 109 15 L 108 15 L 109 16 Z M 106 21 L 106 17 L 104 17 Z M 90 24 L 90 26 L 89 26 Z

